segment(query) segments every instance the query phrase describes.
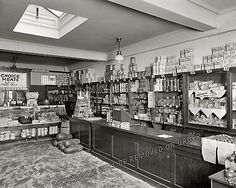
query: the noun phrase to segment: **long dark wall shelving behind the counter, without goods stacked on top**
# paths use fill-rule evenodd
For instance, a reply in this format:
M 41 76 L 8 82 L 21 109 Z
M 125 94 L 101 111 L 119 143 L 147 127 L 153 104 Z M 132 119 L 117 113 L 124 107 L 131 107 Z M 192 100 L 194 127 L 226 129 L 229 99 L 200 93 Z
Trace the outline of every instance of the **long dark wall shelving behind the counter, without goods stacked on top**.
M 211 87 L 192 88 L 194 81 L 203 85 L 204 82 L 206 84 L 211 81 Z M 126 85 L 124 90 L 120 90 L 122 84 Z M 160 127 L 181 133 L 198 133 L 202 136 L 219 133 L 236 134 L 236 68 L 154 76 L 143 74 L 141 77 L 133 76 L 90 85 L 94 87 L 91 96 L 97 101 L 95 105 L 99 111 L 97 115 L 105 116 L 108 110 L 123 107 L 129 111 L 132 123 L 135 125 Z M 155 95 L 155 106 L 152 108 L 148 107 L 149 92 Z M 115 102 L 118 100 L 114 98 L 120 97 L 121 94 L 126 95 L 127 104 Z M 204 106 L 201 101 L 201 105 L 195 105 L 191 102 L 193 100 L 191 97 L 194 97 L 195 102 L 207 99 L 218 101 L 219 104 Z M 200 113 L 200 116 L 208 115 L 208 119 L 213 114 L 219 119 L 218 126 L 214 123 L 193 121 L 193 116 L 197 113 Z

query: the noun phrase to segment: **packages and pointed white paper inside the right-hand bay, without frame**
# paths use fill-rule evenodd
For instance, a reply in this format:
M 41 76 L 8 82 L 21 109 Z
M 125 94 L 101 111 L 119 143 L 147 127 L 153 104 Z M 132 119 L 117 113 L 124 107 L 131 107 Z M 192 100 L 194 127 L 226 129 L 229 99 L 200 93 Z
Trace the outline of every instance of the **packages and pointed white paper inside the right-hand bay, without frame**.
M 226 127 L 226 89 L 214 80 L 195 80 L 189 84 L 189 122 Z

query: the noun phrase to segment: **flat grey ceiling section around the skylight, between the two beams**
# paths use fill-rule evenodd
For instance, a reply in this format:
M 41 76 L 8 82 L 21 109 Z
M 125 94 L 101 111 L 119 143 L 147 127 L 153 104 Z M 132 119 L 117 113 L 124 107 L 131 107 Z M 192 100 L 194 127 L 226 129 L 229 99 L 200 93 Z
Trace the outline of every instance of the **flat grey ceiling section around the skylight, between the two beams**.
M 14 33 L 13 29 L 28 4 L 36 4 L 83 16 L 88 20 L 59 40 Z M 0 0 L 0 38 L 108 52 L 115 38 L 126 46 L 162 35 L 183 26 L 125 8 L 105 0 Z

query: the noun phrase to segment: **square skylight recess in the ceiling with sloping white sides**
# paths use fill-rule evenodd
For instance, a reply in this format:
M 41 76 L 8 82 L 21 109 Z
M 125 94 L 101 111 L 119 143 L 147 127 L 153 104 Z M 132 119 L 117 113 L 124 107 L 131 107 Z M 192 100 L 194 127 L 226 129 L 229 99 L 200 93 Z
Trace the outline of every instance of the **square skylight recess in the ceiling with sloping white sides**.
M 14 32 L 59 39 L 88 18 L 30 4 L 14 28 Z

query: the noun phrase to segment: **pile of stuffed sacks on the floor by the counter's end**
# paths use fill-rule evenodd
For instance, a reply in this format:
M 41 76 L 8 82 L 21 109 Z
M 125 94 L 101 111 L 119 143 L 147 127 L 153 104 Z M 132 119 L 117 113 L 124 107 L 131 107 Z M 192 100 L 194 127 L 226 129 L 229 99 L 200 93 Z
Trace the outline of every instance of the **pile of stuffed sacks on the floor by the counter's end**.
M 58 147 L 64 153 L 76 153 L 83 150 L 83 146 L 80 144 L 80 140 L 72 138 L 71 134 L 59 133 L 56 136 L 56 140 L 52 143 L 55 147 Z

